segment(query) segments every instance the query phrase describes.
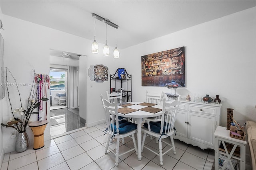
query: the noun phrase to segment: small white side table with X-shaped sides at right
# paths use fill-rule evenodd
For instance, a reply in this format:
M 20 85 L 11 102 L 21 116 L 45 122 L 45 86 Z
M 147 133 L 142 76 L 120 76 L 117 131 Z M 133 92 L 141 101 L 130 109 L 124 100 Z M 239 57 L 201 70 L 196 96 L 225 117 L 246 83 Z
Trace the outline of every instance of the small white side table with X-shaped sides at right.
M 246 146 L 246 141 L 240 140 L 240 139 L 235 139 L 230 137 L 230 131 L 226 129 L 226 127 L 221 127 L 218 126 L 216 131 L 214 132 L 214 152 L 215 152 L 215 170 L 219 169 L 219 142 L 222 143 L 222 145 L 224 146 L 225 152 L 223 152 L 226 156 L 226 162 L 223 165 L 222 170 L 224 170 L 228 164 L 228 162 L 230 162 L 230 165 L 232 165 L 232 162 L 230 160 L 230 158 L 235 158 L 237 160 L 240 160 L 240 170 L 245 170 L 245 146 Z M 230 153 L 228 153 L 228 150 L 226 148 L 226 143 L 230 143 L 232 145 L 234 145 L 234 147 L 232 148 L 232 150 L 230 151 Z M 234 156 L 234 151 L 236 150 L 236 147 L 240 146 L 240 158 L 237 156 Z M 232 167 L 231 167 L 232 168 Z M 234 170 L 234 167 L 232 168 Z

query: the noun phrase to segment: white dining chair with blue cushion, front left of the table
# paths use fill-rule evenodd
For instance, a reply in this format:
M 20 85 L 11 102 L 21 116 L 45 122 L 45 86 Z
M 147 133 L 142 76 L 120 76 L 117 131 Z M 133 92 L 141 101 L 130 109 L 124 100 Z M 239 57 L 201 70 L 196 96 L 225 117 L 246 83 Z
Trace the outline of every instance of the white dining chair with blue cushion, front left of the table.
M 131 152 L 132 150 L 135 150 L 136 154 L 138 154 L 138 149 L 137 149 L 136 141 L 135 141 L 135 137 L 134 137 L 134 133 L 136 133 L 137 125 L 130 121 L 126 121 L 126 120 L 119 121 L 118 120 L 117 104 L 118 104 L 117 100 L 115 100 L 114 103 L 110 103 L 106 99 L 102 100 L 102 105 L 105 110 L 105 118 L 106 118 L 106 123 L 107 123 L 106 134 L 108 135 L 108 141 L 106 144 L 105 153 L 107 153 L 107 150 L 110 150 L 110 152 L 112 152 L 116 156 L 116 160 L 115 160 L 116 166 L 118 166 L 118 157 L 119 156 L 126 154 L 128 152 Z M 110 117 L 111 112 L 113 113 L 112 118 Z M 126 152 L 123 152 L 120 154 L 119 153 L 120 138 L 124 138 L 124 137 L 132 138 L 132 141 L 134 143 L 134 148 L 129 149 Z M 110 144 L 110 139 L 116 139 L 116 142 L 112 142 Z M 116 152 L 114 152 L 114 150 L 112 150 L 110 147 L 110 145 L 113 145 L 114 143 L 116 143 Z

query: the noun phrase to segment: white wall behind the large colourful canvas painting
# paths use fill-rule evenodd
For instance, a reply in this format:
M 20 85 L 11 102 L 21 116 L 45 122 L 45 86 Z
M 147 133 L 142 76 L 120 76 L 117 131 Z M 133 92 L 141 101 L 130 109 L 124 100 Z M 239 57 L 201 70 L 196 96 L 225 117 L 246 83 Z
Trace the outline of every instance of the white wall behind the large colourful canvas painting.
M 166 87 L 141 86 L 141 56 L 182 46 L 186 87 L 177 89 L 182 98 L 188 94 L 209 94 L 213 99 L 220 95 L 222 126 L 227 125 L 226 108 L 233 108 L 234 119 L 241 123 L 256 121 L 256 8 L 123 50 L 124 67 L 132 74 L 133 101 L 145 100 L 146 90 L 169 91 Z

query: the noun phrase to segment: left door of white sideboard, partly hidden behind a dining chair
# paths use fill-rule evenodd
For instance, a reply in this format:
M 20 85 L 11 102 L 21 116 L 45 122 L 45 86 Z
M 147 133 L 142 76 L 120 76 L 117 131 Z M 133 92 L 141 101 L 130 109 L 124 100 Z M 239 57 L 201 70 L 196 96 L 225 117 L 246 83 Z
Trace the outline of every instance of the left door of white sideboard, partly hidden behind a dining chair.
M 176 135 L 187 137 L 187 113 L 178 110 L 174 127 L 176 128 Z

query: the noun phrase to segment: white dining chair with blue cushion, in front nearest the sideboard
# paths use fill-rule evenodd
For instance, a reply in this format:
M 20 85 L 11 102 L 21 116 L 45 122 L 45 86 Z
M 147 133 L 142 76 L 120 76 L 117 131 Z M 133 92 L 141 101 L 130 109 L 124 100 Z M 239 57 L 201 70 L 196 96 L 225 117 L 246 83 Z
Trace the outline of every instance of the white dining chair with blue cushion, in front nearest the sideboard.
M 143 148 L 146 148 L 151 152 L 157 154 L 160 159 L 160 165 L 163 165 L 164 154 L 166 154 L 170 150 L 173 150 L 173 153 L 176 154 L 176 149 L 172 135 L 175 133 L 176 130 L 174 127 L 174 123 L 176 120 L 179 104 L 180 102 L 178 100 L 174 100 L 173 102 L 166 102 L 166 98 L 163 98 L 161 119 L 143 119 L 145 123 L 141 129 L 141 131 L 144 132 L 141 145 L 141 152 L 143 151 Z M 150 149 L 147 146 L 144 146 L 146 136 L 148 136 L 147 134 L 154 136 L 156 137 L 156 139 L 158 139 L 159 153 L 155 152 L 154 150 Z M 170 137 L 171 139 L 171 144 L 162 140 L 168 137 Z M 164 153 L 162 153 L 162 142 L 170 146 L 170 149 L 168 149 Z

